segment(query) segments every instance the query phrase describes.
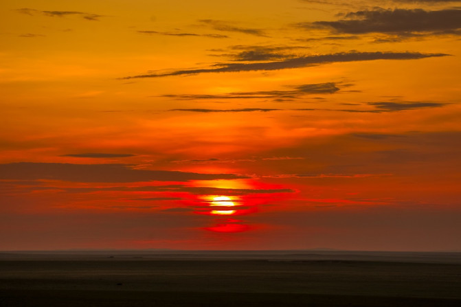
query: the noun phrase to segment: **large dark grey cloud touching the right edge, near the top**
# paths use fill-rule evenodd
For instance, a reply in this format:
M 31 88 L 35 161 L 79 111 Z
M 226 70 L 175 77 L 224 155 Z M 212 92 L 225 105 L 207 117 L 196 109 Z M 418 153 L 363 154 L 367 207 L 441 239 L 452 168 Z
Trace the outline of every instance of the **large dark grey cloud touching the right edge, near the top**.
M 346 14 L 338 21 L 315 21 L 297 23 L 307 29 L 329 28 L 337 33 L 346 34 L 402 34 L 414 32 L 426 34 L 452 33 L 461 28 L 461 10 L 426 11 L 422 9 L 362 10 Z

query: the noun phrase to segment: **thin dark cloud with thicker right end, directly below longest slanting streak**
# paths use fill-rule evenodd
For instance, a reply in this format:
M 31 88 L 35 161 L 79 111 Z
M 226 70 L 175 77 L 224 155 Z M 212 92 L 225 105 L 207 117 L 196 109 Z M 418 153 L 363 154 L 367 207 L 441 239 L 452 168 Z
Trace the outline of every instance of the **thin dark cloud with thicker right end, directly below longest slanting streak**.
M 221 95 L 163 95 L 162 97 L 175 98 L 179 100 L 207 100 L 207 99 L 269 99 L 269 98 L 300 98 L 308 94 L 333 94 L 339 91 L 334 82 L 302 84 L 293 87 L 291 91 L 253 91 L 234 92 Z M 251 111 L 274 111 L 275 109 L 237 109 Z

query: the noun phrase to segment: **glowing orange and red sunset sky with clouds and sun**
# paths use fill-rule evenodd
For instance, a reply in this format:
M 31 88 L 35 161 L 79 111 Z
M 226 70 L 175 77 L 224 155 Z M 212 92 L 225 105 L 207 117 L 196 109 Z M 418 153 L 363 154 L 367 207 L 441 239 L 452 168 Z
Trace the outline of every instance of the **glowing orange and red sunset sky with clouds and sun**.
M 461 1 L 5 0 L 0 250 L 461 250 Z

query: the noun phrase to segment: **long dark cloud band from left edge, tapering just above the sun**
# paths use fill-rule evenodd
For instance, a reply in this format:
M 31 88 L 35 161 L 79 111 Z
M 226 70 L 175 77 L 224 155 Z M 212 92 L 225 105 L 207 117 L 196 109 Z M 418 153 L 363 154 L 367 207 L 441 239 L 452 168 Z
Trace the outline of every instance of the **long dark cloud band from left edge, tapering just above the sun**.
M 236 174 L 198 174 L 168 170 L 137 170 L 127 164 L 8 163 L 0 164 L 0 179 L 76 182 L 137 182 L 243 179 Z

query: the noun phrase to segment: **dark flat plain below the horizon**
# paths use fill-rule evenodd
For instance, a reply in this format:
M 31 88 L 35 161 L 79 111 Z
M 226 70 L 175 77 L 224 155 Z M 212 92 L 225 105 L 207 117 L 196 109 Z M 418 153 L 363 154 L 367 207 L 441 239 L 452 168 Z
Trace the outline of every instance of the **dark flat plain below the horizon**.
M 1 253 L 0 306 L 461 306 L 460 260 L 460 253 Z

